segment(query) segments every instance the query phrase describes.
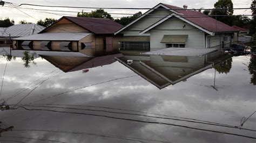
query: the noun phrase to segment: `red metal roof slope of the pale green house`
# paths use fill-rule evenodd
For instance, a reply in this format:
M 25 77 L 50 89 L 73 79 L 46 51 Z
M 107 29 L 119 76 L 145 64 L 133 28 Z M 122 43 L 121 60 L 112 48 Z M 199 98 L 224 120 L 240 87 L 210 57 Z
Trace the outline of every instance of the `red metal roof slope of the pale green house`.
M 170 9 L 183 9 L 179 8 L 178 6 L 173 6 L 169 4 L 164 4 Z M 205 30 L 212 31 L 212 32 L 234 32 L 239 31 L 231 26 L 228 26 L 210 16 L 206 16 L 204 13 L 194 11 L 194 10 L 175 10 L 183 15 L 179 15 L 190 22 L 197 24 L 198 26 L 204 28 Z

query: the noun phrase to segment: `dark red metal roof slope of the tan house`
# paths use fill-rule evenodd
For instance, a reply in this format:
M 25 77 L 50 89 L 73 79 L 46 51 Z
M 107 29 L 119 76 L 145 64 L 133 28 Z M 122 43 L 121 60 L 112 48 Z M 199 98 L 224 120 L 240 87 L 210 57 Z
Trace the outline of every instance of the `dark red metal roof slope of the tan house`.
M 71 22 L 85 28 L 96 34 L 114 34 L 117 30 L 123 27 L 113 20 L 104 18 L 89 18 L 89 17 L 65 17 Z

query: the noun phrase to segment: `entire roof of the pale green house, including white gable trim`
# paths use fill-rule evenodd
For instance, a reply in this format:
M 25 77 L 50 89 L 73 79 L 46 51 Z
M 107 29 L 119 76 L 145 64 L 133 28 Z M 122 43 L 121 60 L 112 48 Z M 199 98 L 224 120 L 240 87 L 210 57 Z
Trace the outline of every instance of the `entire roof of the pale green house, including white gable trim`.
M 237 29 L 235 29 L 229 25 L 226 25 L 222 22 L 219 22 L 218 20 L 215 20 L 214 18 L 212 18 L 210 16 L 204 15 L 204 13 L 194 11 L 194 10 L 185 10 L 184 8 L 180 8 L 178 6 L 160 3 L 157 6 L 154 6 L 154 8 L 152 10 L 147 11 L 142 16 L 140 16 L 139 18 L 134 20 L 132 23 L 121 28 L 119 31 L 116 32 L 116 34 L 123 31 L 125 28 L 127 28 L 130 25 L 132 25 L 133 23 L 137 22 L 139 19 L 143 18 L 144 16 L 148 15 L 150 12 L 152 12 L 154 9 L 157 9 L 159 6 L 162 6 L 163 8 L 170 10 L 174 13 L 172 13 L 170 16 L 164 17 L 162 20 L 156 22 L 152 26 L 147 27 L 144 31 L 141 32 L 141 34 L 145 33 L 146 31 L 150 30 L 151 28 L 163 23 L 165 20 L 169 19 L 172 16 L 178 17 L 181 20 L 184 20 L 185 22 L 187 22 L 193 26 L 196 26 L 197 28 L 200 28 L 200 30 L 203 30 L 209 34 L 213 34 L 212 32 L 223 33 L 223 32 L 238 31 Z

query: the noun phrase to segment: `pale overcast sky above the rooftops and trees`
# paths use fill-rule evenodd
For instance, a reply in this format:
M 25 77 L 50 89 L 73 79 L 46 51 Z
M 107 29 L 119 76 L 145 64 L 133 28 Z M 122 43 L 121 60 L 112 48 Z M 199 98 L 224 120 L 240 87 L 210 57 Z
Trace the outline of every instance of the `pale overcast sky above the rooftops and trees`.
M 188 5 L 188 9 L 199 9 L 199 8 L 213 8 L 213 5 L 217 0 L 78 0 L 78 1 L 67 1 L 67 0 L 5 0 L 5 2 L 11 2 L 14 4 L 29 3 L 29 4 L 40 4 L 40 5 L 58 5 L 58 6 L 86 6 L 86 7 L 112 7 L 112 8 L 152 8 L 158 3 L 166 3 L 183 7 L 184 4 Z M 252 0 L 232 0 L 234 8 L 250 8 Z M 22 8 L 34 8 L 34 9 L 48 9 L 37 6 L 22 6 Z M 50 10 L 65 10 L 65 11 L 82 11 L 82 9 L 60 9 L 60 8 L 49 8 Z M 39 19 L 46 17 L 59 19 L 62 16 L 76 16 L 76 13 L 66 12 L 53 12 L 59 13 L 59 15 L 36 12 L 33 10 L 19 11 L 15 8 L 10 8 L 8 5 L 0 6 L 0 18 L 9 17 L 14 19 L 16 24 L 20 20 L 26 20 L 27 22 L 36 23 Z M 84 9 L 85 12 L 89 12 L 92 9 Z M 105 10 L 107 12 L 118 12 L 118 13 L 136 13 L 139 10 Z M 145 12 L 145 10 L 140 10 Z M 29 15 L 29 16 L 28 16 Z M 234 15 L 251 15 L 251 10 L 235 10 Z M 31 17 L 30 17 L 31 16 Z M 33 18 L 32 18 L 33 17 Z M 122 17 L 122 15 L 112 15 L 112 17 Z

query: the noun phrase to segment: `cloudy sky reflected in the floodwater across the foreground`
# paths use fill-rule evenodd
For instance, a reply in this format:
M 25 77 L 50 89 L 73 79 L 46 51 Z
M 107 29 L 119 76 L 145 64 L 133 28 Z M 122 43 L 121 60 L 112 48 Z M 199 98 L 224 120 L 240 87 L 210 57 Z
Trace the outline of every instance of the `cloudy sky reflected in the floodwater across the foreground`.
M 136 74 L 119 62 L 114 62 L 111 65 L 103 67 L 91 68 L 88 73 L 82 73 L 82 71 L 63 73 L 63 71 L 41 58 L 36 59 L 35 62 L 37 64 L 31 65 L 30 68 L 24 68 L 20 58 L 8 62 L 2 98 L 6 100 L 14 96 L 17 91 L 21 89 L 21 91 L 23 91 L 29 88 L 29 90 L 23 91 L 22 94 L 10 98 L 7 102 L 8 104 L 18 103 L 36 87 L 35 83 L 41 83 L 45 80 L 38 88 L 31 92 L 21 104 L 39 101 L 40 99 L 57 95 L 37 103 L 104 106 L 107 108 L 136 110 L 200 119 L 233 126 L 238 126 L 243 116 L 248 117 L 256 110 L 255 86 L 250 84 L 251 75 L 246 67 L 250 62 L 250 56 L 234 57 L 232 68 L 228 74 L 218 74 L 217 72 L 215 84 L 218 91 L 211 87 L 214 83 L 214 69 L 207 69 L 202 73 L 187 78 L 185 82 L 181 81 L 175 85 L 170 85 L 169 87 L 159 90 L 142 77 L 133 76 Z M 4 72 L 5 63 L 6 60 L 1 58 L 1 76 Z M 41 79 L 38 80 L 38 78 Z M 117 78 L 122 79 L 114 80 Z M 38 81 L 34 82 L 36 80 Z M 58 95 L 65 91 L 105 81 L 110 82 L 92 85 L 87 88 Z M 33 82 L 33 84 L 31 84 L 31 82 Z M 64 107 L 111 112 L 29 106 L 26 108 L 156 121 L 256 137 L 253 131 L 198 124 L 188 121 L 112 113 L 125 112 L 159 117 L 159 115 L 150 115 L 140 112 L 84 106 Z M 2 133 L 3 137 L 26 137 L 63 142 L 137 142 L 134 140 L 145 142 L 157 142 L 156 140 L 170 142 L 255 142 L 253 139 L 235 135 L 200 131 L 180 126 L 140 123 L 131 120 L 50 111 L 26 111 L 23 109 L 1 111 L 0 119 L 4 119 L 8 125 L 15 126 L 14 130 L 16 130 Z M 254 115 L 247 120 L 243 127 L 256 130 L 255 123 L 256 118 Z M 100 137 L 101 135 L 105 135 L 105 137 Z M 151 141 L 142 139 L 150 139 Z M 21 138 L 0 138 L 0 140 L 44 142 L 43 140 Z

